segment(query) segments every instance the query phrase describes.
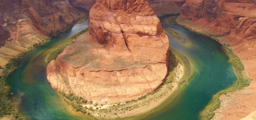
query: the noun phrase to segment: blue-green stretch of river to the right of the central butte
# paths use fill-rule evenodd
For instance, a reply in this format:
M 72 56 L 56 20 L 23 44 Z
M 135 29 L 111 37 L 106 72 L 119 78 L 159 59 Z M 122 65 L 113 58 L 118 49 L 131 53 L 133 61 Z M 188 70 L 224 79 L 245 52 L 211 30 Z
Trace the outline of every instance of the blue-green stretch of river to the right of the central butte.
M 237 79 L 221 44 L 181 26 L 162 23 L 170 47 L 190 61 L 194 70 L 189 84 L 178 90 L 156 110 L 144 115 L 146 120 L 199 120 L 200 111 L 212 96 L 232 85 Z M 176 32 L 173 36 L 168 29 Z M 187 83 L 185 83 L 187 84 Z M 157 112 L 155 112 L 157 111 Z

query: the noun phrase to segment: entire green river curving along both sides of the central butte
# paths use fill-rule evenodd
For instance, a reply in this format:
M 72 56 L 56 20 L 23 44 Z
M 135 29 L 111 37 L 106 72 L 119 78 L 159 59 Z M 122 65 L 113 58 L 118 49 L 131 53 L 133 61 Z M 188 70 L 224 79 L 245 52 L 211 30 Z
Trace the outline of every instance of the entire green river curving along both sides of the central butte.
M 237 77 L 219 43 L 177 25 L 162 23 L 162 26 L 169 38 L 170 47 L 186 57 L 194 71 L 192 77 L 187 80 L 189 82 L 185 82 L 185 85 L 162 105 L 131 119 L 198 120 L 199 112 L 209 103 L 212 96 L 233 84 Z M 21 99 L 20 112 L 28 119 L 92 119 L 72 111 L 51 87 L 46 79 L 47 65 L 44 60 L 49 49 L 87 27 L 88 21 L 76 24 L 71 30 L 33 50 L 18 63 L 18 68 L 8 75 L 6 84 L 10 86 L 9 92 Z M 170 31 L 176 35 L 173 36 Z

